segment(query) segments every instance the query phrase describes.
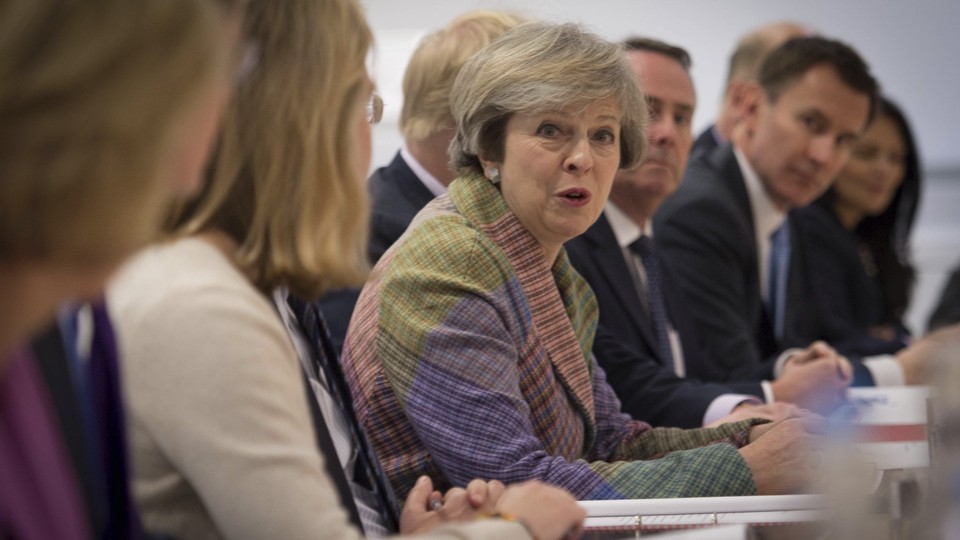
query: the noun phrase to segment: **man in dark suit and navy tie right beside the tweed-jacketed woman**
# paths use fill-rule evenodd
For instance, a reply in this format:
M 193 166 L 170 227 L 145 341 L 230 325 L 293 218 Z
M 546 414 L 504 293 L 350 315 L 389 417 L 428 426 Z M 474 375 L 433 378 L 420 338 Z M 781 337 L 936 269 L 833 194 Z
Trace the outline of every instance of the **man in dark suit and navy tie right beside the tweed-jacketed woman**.
M 669 267 L 650 268 L 655 261 L 632 249 L 640 239 L 649 238 L 650 218 L 676 190 L 686 166 L 696 105 L 690 56 L 679 47 L 645 38 L 627 40 L 625 48 L 650 108 L 647 154 L 639 167 L 617 174 L 610 202 L 597 223 L 567 243 L 571 261 L 597 295 L 602 327 L 623 346 L 640 353 L 628 362 L 626 356 L 604 350 L 600 341 L 594 350 L 624 410 L 645 420 L 653 412 L 654 423 L 693 427 L 730 414 L 745 402 L 759 403 L 758 398 L 793 401 L 808 408 L 834 405 L 846 384 L 836 375 L 837 358 L 823 347 L 803 358 L 812 360 L 820 354 L 826 358 L 790 369 L 773 383 L 759 379 L 723 385 L 695 382 L 725 380 L 720 363 L 701 346 L 687 313 L 695 306 L 682 297 Z M 663 304 L 662 321 L 657 302 Z M 658 392 L 656 388 L 667 386 L 671 376 L 687 378 L 673 392 Z M 658 378 L 664 382 L 644 386 L 644 381 Z M 656 403 L 649 403 L 652 400 Z M 751 414 L 766 412 L 772 411 L 753 408 Z

